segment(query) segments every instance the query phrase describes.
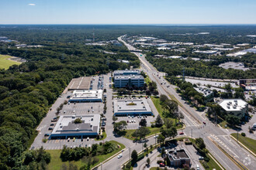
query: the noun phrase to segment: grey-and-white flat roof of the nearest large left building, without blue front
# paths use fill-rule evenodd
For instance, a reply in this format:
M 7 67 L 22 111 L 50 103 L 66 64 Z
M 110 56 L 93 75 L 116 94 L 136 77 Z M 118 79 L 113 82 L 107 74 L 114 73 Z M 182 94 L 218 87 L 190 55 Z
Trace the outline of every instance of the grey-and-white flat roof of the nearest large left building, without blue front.
M 81 118 L 81 124 L 74 124 L 76 118 Z M 52 134 L 98 133 L 99 122 L 99 114 L 61 116 Z

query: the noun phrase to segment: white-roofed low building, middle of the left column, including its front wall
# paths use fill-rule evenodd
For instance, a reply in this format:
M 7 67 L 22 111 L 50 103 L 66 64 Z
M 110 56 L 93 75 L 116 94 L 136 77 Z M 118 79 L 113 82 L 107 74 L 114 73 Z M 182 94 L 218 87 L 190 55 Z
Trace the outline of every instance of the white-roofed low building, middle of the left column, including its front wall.
M 102 102 L 103 90 L 74 90 L 70 102 Z

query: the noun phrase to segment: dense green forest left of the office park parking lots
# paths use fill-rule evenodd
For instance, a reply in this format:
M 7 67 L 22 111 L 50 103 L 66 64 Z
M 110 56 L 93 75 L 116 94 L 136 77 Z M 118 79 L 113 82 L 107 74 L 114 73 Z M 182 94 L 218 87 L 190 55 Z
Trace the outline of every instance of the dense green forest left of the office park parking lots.
M 17 49 L 13 42 L 0 43 L 1 54 L 27 60 L 19 66 L 10 66 L 9 70 L 0 70 L 1 169 L 21 167 L 23 151 L 29 148 L 35 128 L 72 78 L 140 65 L 137 56 L 124 46 L 111 43 L 107 46 L 85 46 L 84 42 L 76 42 L 77 39 L 68 39 L 71 32 L 77 35 L 76 30 L 67 29 L 67 34 L 61 34 L 47 29 L 38 31 L 35 27 L 30 31 L 26 29 L 22 26 L 0 29 L 1 35 L 10 39 L 27 44 L 33 44 L 31 40 L 34 39 L 34 44 L 43 45 L 40 48 Z M 101 40 L 112 37 L 116 38 L 102 36 Z M 102 53 L 102 50 L 116 54 Z M 130 64 L 119 63 L 117 59 L 129 60 Z

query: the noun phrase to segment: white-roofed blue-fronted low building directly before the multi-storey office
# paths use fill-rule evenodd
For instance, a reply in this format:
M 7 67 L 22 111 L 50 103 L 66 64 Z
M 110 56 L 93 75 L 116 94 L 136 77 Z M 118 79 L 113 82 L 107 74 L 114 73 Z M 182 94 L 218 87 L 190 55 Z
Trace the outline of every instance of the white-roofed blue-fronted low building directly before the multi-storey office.
M 114 100 L 115 116 L 152 115 L 149 104 L 145 98 Z

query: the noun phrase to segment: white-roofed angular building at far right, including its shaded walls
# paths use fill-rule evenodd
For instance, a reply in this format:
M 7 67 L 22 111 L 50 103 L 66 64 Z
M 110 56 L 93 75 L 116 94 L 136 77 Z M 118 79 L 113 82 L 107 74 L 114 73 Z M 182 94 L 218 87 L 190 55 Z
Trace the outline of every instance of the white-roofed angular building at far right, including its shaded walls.
M 220 102 L 220 107 L 227 112 L 237 117 L 245 117 L 248 114 L 248 104 L 241 99 L 224 99 Z

